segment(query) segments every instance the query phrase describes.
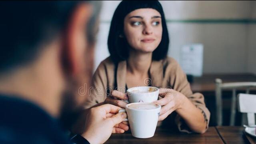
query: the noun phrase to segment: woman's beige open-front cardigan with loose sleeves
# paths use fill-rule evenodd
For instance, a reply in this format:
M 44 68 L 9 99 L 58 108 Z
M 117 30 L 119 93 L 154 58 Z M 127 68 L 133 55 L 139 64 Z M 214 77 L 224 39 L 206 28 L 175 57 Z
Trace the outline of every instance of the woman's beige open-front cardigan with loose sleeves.
M 117 68 L 115 68 L 110 57 L 100 63 L 94 73 L 93 89 L 90 91 L 85 108 L 104 102 L 109 92 L 115 89 L 115 86 L 117 86 L 118 91 L 126 92 L 126 61 L 119 62 Z M 186 74 L 176 60 L 167 57 L 160 61 L 152 61 L 149 74 L 151 86 L 173 88 L 184 94 L 196 107 L 200 108 L 207 123 L 206 128 L 208 128 L 210 112 L 205 106 L 204 96 L 200 93 L 192 93 Z M 173 121 L 180 131 L 191 132 L 184 120 L 178 114 L 175 114 L 176 112 L 173 113 L 168 116 L 170 117 L 169 120 L 166 118 L 168 123 Z

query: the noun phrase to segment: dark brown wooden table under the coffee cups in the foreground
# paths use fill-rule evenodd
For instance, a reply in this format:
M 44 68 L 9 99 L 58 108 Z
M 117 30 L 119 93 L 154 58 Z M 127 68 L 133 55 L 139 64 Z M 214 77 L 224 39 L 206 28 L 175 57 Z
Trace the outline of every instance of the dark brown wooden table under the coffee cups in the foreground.
M 204 134 L 184 134 L 156 128 L 152 138 L 135 138 L 131 132 L 112 134 L 106 144 L 249 144 L 256 142 L 243 133 L 242 127 L 209 127 Z M 248 140 L 250 139 L 250 141 Z

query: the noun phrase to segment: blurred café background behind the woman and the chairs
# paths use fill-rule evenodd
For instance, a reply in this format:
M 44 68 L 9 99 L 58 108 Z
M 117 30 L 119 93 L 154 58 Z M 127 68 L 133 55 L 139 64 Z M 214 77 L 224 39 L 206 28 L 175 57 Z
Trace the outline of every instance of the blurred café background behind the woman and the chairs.
M 103 1 L 94 70 L 109 56 L 108 32 L 119 3 L 119 0 Z M 222 79 L 222 82 L 256 82 L 256 2 L 160 0 L 160 3 L 170 36 L 168 56 L 175 58 L 186 69 L 193 63 L 186 64 L 186 60 L 183 63 L 182 48 L 193 44 L 203 46 L 203 51 L 187 53 L 185 58 L 191 54 L 195 59 L 194 65 L 199 64 L 196 69 L 199 75 L 189 79 L 191 88 L 193 92 L 204 94 L 206 106 L 211 112 L 210 126 L 217 125 L 216 78 Z M 241 89 L 238 92 L 244 91 Z M 251 93 L 256 93 L 256 90 L 252 89 Z M 232 90 L 223 91 L 224 125 L 229 125 L 231 99 Z M 235 124 L 241 124 L 240 114 L 236 114 Z

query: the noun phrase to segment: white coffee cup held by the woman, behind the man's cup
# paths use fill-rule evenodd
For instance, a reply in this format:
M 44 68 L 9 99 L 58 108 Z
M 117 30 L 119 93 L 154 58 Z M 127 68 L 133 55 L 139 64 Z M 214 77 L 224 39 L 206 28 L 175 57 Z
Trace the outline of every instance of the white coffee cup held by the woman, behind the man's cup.
M 138 86 L 129 88 L 127 95 L 129 102 L 154 102 L 158 99 L 159 88 L 152 86 Z

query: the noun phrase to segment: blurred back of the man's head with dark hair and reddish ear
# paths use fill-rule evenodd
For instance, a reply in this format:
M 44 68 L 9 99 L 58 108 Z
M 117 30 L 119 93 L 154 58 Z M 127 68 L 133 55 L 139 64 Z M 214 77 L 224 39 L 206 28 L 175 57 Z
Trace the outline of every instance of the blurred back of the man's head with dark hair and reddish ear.
M 56 91 L 62 112 L 77 109 L 86 98 L 78 87 L 90 87 L 99 9 L 93 1 L 0 2 L 0 79 L 28 72 L 32 86 Z

